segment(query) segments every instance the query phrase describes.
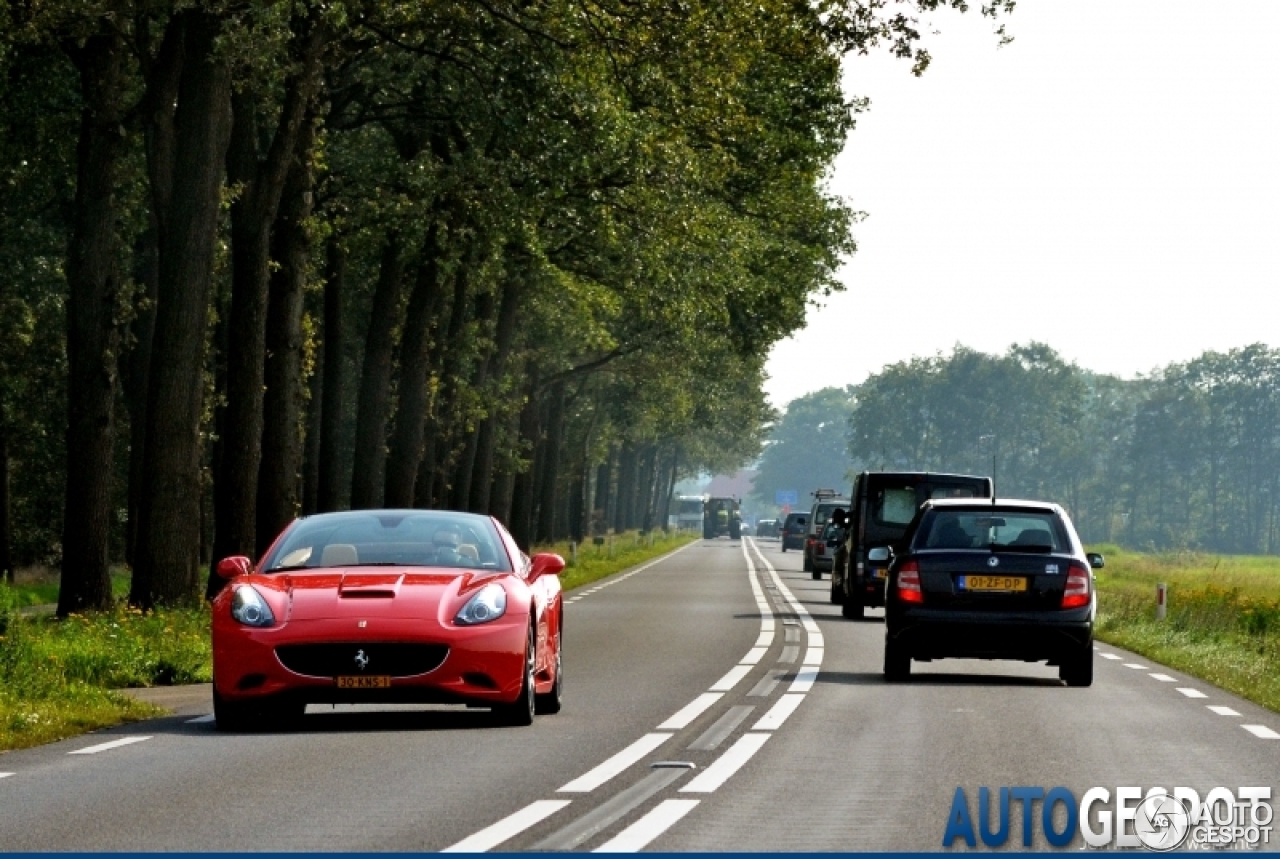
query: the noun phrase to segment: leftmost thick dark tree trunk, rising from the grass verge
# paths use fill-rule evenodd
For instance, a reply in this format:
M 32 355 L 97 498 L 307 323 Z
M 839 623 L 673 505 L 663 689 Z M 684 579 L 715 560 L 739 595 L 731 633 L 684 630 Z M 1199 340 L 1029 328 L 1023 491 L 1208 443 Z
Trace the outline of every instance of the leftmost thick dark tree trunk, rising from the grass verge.
M 76 205 L 67 253 L 67 488 L 58 614 L 111 604 L 109 543 L 120 332 L 115 186 L 124 41 L 115 33 L 68 46 L 81 78 Z

